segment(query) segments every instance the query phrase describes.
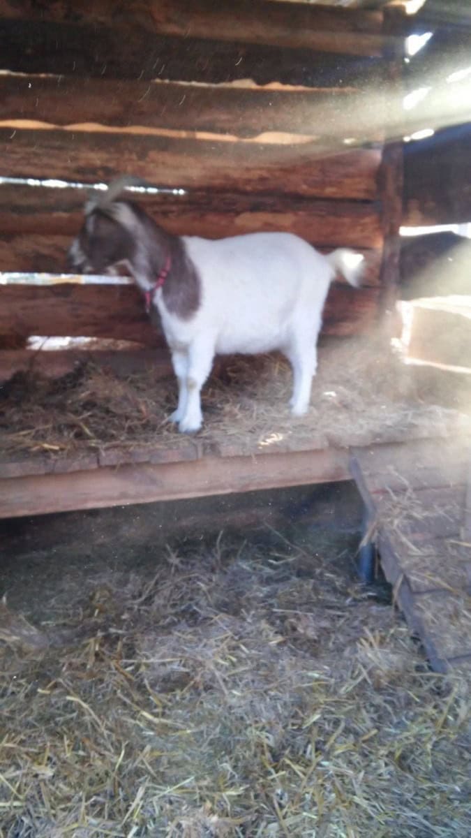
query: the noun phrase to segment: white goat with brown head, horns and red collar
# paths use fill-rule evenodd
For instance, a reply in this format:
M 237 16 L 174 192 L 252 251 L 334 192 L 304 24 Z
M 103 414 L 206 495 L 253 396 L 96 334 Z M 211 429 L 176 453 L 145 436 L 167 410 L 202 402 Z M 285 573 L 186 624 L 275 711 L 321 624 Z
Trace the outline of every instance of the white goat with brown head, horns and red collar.
M 180 432 L 202 424 L 200 391 L 215 354 L 278 349 L 292 365 L 290 406 L 308 410 L 317 341 L 330 282 L 341 272 L 359 285 L 363 257 L 338 249 L 323 256 L 292 233 L 250 233 L 209 240 L 163 230 L 137 204 L 118 200 L 135 178 L 119 178 L 85 205 L 70 246 L 75 272 L 116 273 L 126 266 L 158 309 L 179 384 L 169 417 Z M 142 182 L 141 182 L 142 183 Z

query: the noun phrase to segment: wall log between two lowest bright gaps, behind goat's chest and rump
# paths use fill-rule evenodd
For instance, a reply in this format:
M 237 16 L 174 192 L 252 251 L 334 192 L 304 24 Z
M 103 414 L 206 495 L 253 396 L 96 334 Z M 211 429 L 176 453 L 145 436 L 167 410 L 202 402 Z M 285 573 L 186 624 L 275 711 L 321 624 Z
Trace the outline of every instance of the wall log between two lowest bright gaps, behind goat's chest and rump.
M 323 315 L 324 334 L 359 334 L 378 311 L 379 288 L 356 290 L 334 283 Z M 148 319 L 134 285 L 49 287 L 0 284 L 0 335 L 97 337 L 159 345 L 157 315 Z

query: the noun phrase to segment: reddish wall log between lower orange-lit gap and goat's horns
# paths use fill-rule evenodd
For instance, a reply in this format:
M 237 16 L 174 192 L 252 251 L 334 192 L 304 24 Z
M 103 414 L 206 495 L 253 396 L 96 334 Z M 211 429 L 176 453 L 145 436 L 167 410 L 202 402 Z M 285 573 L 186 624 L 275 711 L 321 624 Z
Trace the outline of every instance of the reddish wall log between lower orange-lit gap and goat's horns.
M 3 169 L 20 178 L 108 181 L 127 172 L 173 189 L 375 199 L 380 151 L 320 156 L 317 145 L 263 145 L 86 131 L 0 129 Z M 327 156 L 326 156 L 327 155 Z

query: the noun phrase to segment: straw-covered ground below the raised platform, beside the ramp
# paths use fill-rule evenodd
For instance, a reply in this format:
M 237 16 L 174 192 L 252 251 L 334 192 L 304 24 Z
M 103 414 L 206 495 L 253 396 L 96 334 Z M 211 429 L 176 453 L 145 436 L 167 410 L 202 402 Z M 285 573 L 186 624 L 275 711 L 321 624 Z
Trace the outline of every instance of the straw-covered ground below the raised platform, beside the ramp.
M 2 838 L 469 838 L 467 679 L 358 583 L 360 516 L 341 484 L 2 522 Z

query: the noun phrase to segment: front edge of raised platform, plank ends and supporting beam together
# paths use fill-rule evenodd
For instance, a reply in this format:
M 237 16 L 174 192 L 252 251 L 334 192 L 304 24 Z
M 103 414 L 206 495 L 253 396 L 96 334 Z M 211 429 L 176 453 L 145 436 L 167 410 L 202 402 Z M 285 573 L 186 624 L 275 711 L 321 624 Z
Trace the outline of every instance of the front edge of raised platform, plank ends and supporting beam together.
M 181 442 L 180 442 L 181 439 Z M 347 448 L 217 445 L 38 455 L 0 463 L 0 518 L 348 480 Z M 315 446 L 315 442 L 313 442 Z M 267 452 L 267 453 L 266 453 Z

